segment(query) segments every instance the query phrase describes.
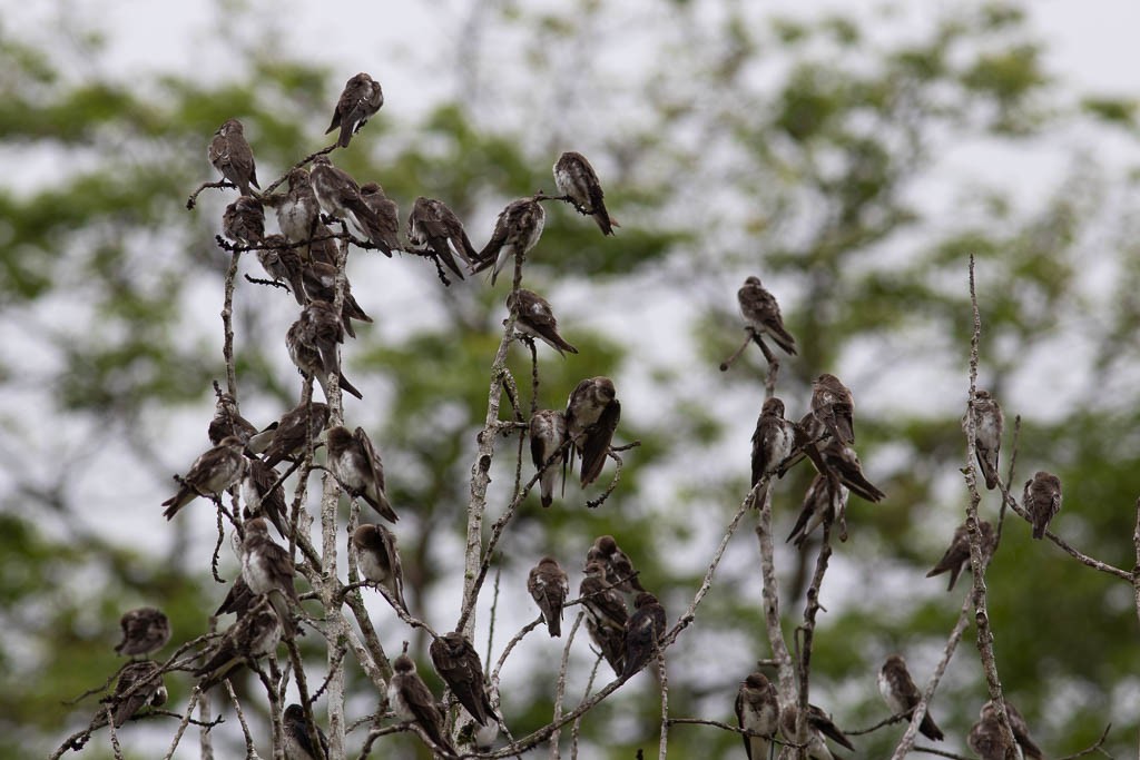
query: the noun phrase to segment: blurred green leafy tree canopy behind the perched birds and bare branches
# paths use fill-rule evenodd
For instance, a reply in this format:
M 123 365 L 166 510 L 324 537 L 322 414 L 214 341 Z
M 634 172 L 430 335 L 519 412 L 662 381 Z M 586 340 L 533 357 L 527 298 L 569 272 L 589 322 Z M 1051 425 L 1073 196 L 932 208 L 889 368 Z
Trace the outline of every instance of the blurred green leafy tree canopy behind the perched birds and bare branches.
M 734 294 L 752 273 L 801 346 L 781 375 L 788 417 L 806 411 L 812 377 L 842 377 L 858 404 L 864 467 L 889 495 L 853 502 L 850 538 L 837 545 L 821 598 L 813 701 L 840 725 L 887 716 L 874 678 L 888 654 L 904 653 L 925 680 L 961 603 L 923 574 L 967 499 L 959 419 L 970 254 L 980 384 L 1001 400 L 1008 430 L 1023 415 L 1015 483 L 1056 472 L 1065 507 L 1053 530 L 1105 562 L 1135 564 L 1137 164 L 1116 157 L 1137 155 L 1131 95 L 1074 91 L 1047 68 L 1012 3 L 964 3 L 920 23 L 897 10 L 774 17 L 728 0 L 474 5 L 448 44 L 425 42 L 433 50 L 416 79 L 394 88 L 422 90 L 412 105 L 391 99 L 384 50 L 331 71 L 277 44 L 277 22 L 263 35 L 239 33 L 272 15 L 256 2 L 220 6 L 214 44 L 231 58 L 222 79 L 199 79 L 188 62 L 124 81 L 100 71 L 97 31 L 72 27 L 48 44 L 0 27 L 10 170 L 0 182 L 0 755 L 48 752 L 87 722 L 89 704 L 63 701 L 117 667 L 124 610 L 160 604 L 176 635 L 205 630 L 225 593 L 204 561 L 213 515 L 188 509 L 193 517 L 166 524 L 158 504 L 171 474 L 204 450 L 211 381 L 225 373 L 217 313 L 228 258 L 213 236 L 231 198 L 203 196 L 193 212 L 185 199 L 214 179 L 205 145 L 231 116 L 262 178 L 326 145 L 331 105 L 356 71 L 372 72 L 389 101 L 336 163 L 380 180 L 401 219 L 417 195 L 441 198 L 480 246 L 506 201 L 553 191 L 551 164 L 577 149 L 621 222 L 609 240 L 552 209 L 528 286 L 555 304 L 581 350 L 544 362 L 544 404 L 561 404 L 581 377 L 609 375 L 624 406 L 619 435 L 642 446 L 603 507 L 586 510 L 589 497 L 573 484 L 552 509 L 537 497 L 524 506 L 503 546 L 499 644 L 534 618 L 522 590 L 534 562 L 556 551 L 577 588 L 569 559 L 602 533 L 637 558 L 673 615 L 687 604 L 748 488 L 765 369 L 751 352 L 728 373 L 717 366 L 742 337 Z M 439 87 L 445 71 L 455 97 Z M 993 166 L 1036 179 L 1012 195 Z M 251 263 L 243 272 L 258 276 Z M 414 505 L 401 537 L 409 602 L 427 618 L 450 614 L 510 288 L 473 278 L 445 289 L 422 261 L 361 253 L 349 276 L 376 319 L 348 357 L 368 399 L 355 424 L 383 449 L 393 501 Z M 237 369 L 243 414 L 266 424 L 295 403 L 279 327 L 295 307 L 264 288 L 243 297 L 253 288 L 239 285 Z M 529 375 L 522 352 L 512 362 Z M 510 456 L 491 475 L 492 510 L 502 509 Z M 777 539 L 808 479 L 800 468 L 774 488 Z M 984 497 L 984 516 L 996 507 Z M 811 553 L 779 551 L 790 631 Z M 670 713 L 728 720 L 739 681 L 769 656 L 757 559 L 741 531 L 698 624 L 670 649 Z M 235 566 L 223 563 L 223 577 Z M 1106 749 L 1127 755 L 1140 713 L 1131 589 L 1032 541 L 1016 517 L 987 585 L 1003 685 L 1039 743 L 1064 755 L 1112 722 Z M 484 605 L 480 649 L 487 618 Z M 390 652 L 407 637 L 385 607 L 374 620 Z M 504 671 L 504 710 L 519 734 L 551 714 L 559 649 L 549 646 Z M 572 660 L 571 693 L 588 667 Z M 370 683 L 349 672 L 352 697 L 374 701 Z M 178 704 L 189 685 L 169 680 Z M 947 749 L 968 752 L 985 698 L 964 646 L 933 706 Z M 624 688 L 585 721 L 588 757 L 651 747 L 657 710 L 648 679 Z M 239 751 L 226 728 L 219 741 Z M 164 729 L 136 728 L 139 746 L 164 747 Z M 861 737 L 860 757 L 887 757 L 899 733 Z M 670 734 L 676 757 L 734 757 L 739 742 L 705 728 Z M 392 757 L 422 752 L 410 738 L 392 747 Z M 92 744 L 87 754 L 100 752 Z

